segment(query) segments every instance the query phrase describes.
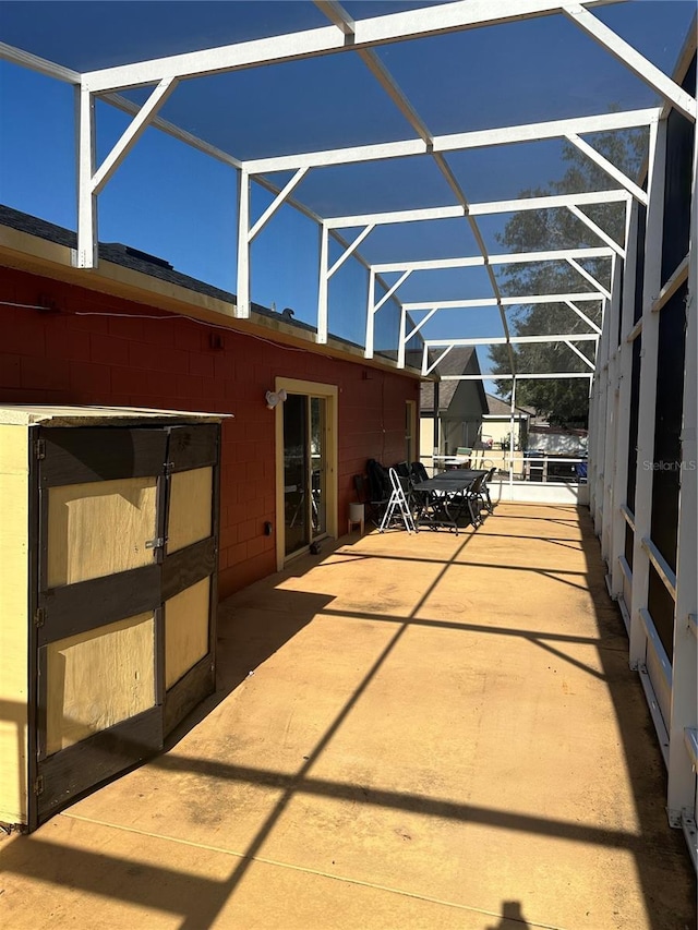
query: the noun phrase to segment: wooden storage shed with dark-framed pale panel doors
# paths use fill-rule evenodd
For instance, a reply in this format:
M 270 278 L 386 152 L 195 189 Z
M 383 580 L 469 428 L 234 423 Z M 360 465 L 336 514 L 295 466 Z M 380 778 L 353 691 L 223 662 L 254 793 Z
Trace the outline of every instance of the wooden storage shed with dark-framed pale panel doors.
M 36 828 L 214 690 L 220 420 L 0 407 L 0 821 Z

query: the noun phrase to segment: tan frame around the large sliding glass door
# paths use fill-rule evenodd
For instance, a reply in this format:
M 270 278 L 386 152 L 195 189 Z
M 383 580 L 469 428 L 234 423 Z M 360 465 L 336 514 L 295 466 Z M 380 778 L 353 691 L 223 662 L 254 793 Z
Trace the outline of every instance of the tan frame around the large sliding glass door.
M 325 519 L 326 534 L 337 539 L 337 385 L 321 384 L 320 382 L 300 381 L 298 378 L 277 377 L 274 390 L 278 394 L 286 390 L 288 394 L 299 394 L 306 398 L 320 397 L 325 400 Z M 286 555 L 286 521 L 284 500 L 284 404 L 275 408 L 275 433 L 276 433 L 276 567 L 280 571 L 284 565 L 308 551 L 308 546 Z

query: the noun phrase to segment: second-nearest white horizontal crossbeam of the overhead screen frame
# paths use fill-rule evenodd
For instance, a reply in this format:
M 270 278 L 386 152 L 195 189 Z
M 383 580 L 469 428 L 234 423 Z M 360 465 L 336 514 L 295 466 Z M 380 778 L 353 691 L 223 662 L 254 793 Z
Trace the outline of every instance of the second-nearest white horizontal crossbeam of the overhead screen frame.
M 470 2 L 470 0 L 469 0 Z M 330 165 L 348 165 L 360 161 L 376 161 L 383 158 L 401 158 L 410 155 L 426 155 L 433 152 L 458 152 L 467 148 L 486 148 L 494 145 L 512 145 L 519 142 L 540 142 L 545 138 L 564 138 L 568 133 L 611 132 L 651 125 L 659 120 L 660 110 L 629 110 L 623 113 L 601 113 L 593 117 L 577 117 L 552 120 L 502 129 L 476 130 L 434 136 L 433 148 L 422 138 L 384 142 L 375 145 L 358 145 L 349 148 L 332 148 L 325 152 L 303 152 L 296 155 L 279 155 L 254 158 L 245 161 L 252 174 L 270 171 L 291 171 L 303 166 L 320 168 Z

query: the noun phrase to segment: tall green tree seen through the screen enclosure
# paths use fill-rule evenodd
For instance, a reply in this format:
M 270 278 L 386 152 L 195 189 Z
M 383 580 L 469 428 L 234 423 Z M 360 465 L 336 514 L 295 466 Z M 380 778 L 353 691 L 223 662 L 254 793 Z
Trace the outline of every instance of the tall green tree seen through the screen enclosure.
M 642 131 L 599 133 L 591 144 L 629 178 L 636 178 L 647 148 L 647 133 Z M 545 188 L 522 191 L 520 196 L 602 191 L 617 186 L 609 176 L 571 143 L 564 146 L 566 171 L 558 181 Z M 616 242 L 623 243 L 625 208 L 623 204 L 599 204 L 583 208 L 587 216 Z M 578 249 L 602 245 L 603 242 L 569 209 L 524 210 L 514 214 L 497 240 L 507 252 L 534 252 L 557 249 Z M 604 287 L 610 286 L 607 259 L 585 259 L 579 263 Z M 590 291 L 592 286 L 567 262 L 540 262 L 504 265 L 498 276 L 502 294 L 565 293 Z M 590 307 L 594 307 L 590 310 Z M 599 304 L 585 302 L 579 309 L 597 325 L 601 325 Z M 520 304 L 507 310 L 512 335 L 554 335 L 589 333 L 591 327 L 564 302 L 552 304 Z M 593 342 L 575 343 L 590 359 Z M 589 367 L 564 342 L 524 343 L 513 346 L 515 372 L 585 372 Z M 509 352 L 506 346 L 490 349 L 493 372 L 509 372 Z M 512 396 L 512 379 L 496 382 L 497 391 L 507 400 Z M 552 424 L 587 426 L 589 414 L 589 382 L 587 378 L 549 381 L 517 381 L 517 406 L 531 407 L 547 416 Z

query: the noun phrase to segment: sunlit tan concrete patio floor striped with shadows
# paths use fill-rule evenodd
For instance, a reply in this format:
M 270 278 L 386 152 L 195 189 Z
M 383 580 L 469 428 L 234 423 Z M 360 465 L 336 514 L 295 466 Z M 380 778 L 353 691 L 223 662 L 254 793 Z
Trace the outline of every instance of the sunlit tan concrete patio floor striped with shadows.
M 157 759 L 0 842 L 38 928 L 694 930 L 588 511 L 345 536 L 221 605 Z

